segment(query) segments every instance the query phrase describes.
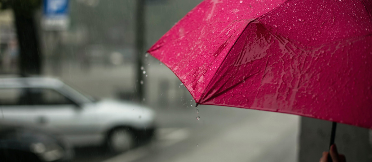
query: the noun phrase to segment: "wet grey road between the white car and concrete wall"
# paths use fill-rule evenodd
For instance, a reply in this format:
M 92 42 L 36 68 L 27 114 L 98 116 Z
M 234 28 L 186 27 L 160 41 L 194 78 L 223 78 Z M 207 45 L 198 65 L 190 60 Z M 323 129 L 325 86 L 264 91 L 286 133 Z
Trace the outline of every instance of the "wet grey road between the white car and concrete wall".
M 77 150 L 76 162 L 295 162 L 299 117 L 201 105 L 158 113 L 154 141 L 119 155 Z

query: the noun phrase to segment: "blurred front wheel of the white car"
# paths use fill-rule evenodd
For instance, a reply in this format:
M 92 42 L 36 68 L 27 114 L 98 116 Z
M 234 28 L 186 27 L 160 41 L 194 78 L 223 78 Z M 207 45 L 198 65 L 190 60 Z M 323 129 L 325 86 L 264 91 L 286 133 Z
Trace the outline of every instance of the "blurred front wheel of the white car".
M 116 128 L 108 136 L 108 145 L 112 152 L 128 151 L 134 144 L 134 134 L 128 128 Z

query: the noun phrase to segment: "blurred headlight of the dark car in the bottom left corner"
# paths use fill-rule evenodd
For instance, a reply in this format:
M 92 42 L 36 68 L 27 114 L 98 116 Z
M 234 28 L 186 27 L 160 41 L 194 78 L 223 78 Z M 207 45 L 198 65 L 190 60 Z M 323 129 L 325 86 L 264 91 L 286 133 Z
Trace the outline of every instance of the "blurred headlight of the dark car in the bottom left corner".
M 56 161 L 63 158 L 64 152 L 61 146 L 56 144 L 45 145 L 42 143 L 34 143 L 30 145 L 30 149 L 33 153 L 38 155 L 44 161 Z

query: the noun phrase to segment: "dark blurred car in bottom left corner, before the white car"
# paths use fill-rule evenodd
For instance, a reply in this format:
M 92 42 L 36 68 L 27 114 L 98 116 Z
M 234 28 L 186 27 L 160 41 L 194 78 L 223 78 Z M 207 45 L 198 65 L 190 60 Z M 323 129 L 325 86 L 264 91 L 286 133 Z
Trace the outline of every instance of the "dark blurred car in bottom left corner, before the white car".
M 68 162 L 73 156 L 70 144 L 53 131 L 0 120 L 0 161 Z

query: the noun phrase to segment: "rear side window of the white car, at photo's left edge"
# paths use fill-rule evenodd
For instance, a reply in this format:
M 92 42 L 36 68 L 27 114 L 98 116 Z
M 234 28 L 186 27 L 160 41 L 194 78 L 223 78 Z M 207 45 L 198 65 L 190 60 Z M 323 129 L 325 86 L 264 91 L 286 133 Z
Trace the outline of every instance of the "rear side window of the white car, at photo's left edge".
M 0 105 L 29 105 L 30 97 L 24 88 L 1 88 Z

